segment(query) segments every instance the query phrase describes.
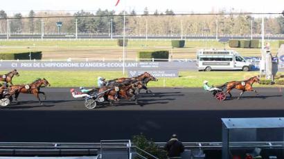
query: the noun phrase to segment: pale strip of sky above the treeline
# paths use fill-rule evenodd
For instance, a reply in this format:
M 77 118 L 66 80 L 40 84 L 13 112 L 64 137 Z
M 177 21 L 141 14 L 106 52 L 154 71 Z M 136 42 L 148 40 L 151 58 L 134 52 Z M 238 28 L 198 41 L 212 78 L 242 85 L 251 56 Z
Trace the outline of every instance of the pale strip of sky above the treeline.
M 227 11 L 234 8 L 236 12 L 282 12 L 284 10 L 284 0 L 121 0 L 117 7 L 117 0 L 1 0 L 0 10 L 5 10 L 8 15 L 15 12 L 26 14 L 28 10 L 116 10 L 120 12 L 126 2 L 126 10 L 136 10 L 142 12 L 145 7 L 154 12 L 164 12 L 166 9 L 172 9 L 176 13 L 186 12 L 210 12 L 211 10 Z

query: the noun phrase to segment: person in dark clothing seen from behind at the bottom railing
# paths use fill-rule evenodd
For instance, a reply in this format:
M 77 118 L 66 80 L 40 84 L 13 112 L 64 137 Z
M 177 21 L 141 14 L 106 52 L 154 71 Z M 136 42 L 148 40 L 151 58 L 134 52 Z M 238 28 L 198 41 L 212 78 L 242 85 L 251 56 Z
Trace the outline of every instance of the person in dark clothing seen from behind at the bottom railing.
M 176 134 L 172 134 L 164 149 L 168 152 L 168 158 L 181 158 L 181 153 L 184 152 L 184 144 L 177 140 Z

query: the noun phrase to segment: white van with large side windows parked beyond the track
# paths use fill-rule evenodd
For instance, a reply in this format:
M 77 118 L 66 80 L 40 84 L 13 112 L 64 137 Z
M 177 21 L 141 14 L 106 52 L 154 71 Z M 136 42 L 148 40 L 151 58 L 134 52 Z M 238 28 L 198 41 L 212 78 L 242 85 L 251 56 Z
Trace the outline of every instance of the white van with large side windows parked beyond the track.
M 247 62 L 234 50 L 202 49 L 197 50 L 198 70 L 242 70 L 250 71 L 251 62 Z

